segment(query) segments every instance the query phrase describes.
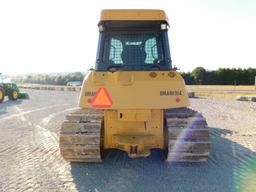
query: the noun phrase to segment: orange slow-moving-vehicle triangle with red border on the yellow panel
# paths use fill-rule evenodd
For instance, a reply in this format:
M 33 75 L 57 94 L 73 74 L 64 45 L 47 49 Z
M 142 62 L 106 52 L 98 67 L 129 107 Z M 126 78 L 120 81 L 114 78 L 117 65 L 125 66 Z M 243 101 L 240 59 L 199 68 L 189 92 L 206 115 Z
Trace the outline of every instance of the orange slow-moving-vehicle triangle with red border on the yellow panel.
M 100 87 L 91 100 L 91 104 L 95 108 L 111 107 L 112 103 L 112 98 L 104 87 Z

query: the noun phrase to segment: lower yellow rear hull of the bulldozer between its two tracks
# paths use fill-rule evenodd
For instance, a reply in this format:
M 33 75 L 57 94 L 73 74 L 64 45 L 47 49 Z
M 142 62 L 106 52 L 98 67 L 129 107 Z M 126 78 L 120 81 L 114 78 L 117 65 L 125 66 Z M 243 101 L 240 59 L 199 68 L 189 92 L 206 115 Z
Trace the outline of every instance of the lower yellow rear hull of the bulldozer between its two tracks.
M 130 157 L 164 148 L 163 110 L 104 110 L 104 129 L 104 148 L 126 151 Z

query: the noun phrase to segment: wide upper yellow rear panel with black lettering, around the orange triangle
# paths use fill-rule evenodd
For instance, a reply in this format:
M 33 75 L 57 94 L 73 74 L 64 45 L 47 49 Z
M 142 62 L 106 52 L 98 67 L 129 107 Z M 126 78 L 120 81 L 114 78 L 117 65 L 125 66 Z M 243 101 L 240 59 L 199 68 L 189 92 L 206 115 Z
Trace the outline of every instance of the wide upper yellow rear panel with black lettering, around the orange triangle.
M 189 105 L 184 80 L 176 71 L 90 71 L 83 82 L 79 107 L 95 108 L 92 101 L 96 100 L 100 88 L 107 91 L 112 101 L 107 107 L 102 103 L 103 109 L 166 109 Z

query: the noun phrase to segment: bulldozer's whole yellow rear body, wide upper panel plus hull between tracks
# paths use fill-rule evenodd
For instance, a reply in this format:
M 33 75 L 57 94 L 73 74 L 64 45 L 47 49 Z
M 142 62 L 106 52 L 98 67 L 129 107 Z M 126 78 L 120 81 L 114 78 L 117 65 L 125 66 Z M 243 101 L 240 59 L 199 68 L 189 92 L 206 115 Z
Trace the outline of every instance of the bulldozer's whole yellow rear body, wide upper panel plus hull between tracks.
M 176 71 L 90 71 L 79 106 L 95 108 L 94 102 L 104 111 L 104 148 L 126 151 L 130 157 L 163 149 L 163 110 L 189 105 L 184 80 Z

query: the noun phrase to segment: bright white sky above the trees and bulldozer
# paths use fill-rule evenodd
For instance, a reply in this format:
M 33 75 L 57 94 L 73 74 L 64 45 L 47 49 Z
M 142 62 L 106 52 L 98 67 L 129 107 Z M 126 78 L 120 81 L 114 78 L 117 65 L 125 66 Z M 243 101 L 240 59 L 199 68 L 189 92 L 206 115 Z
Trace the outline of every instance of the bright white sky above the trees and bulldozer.
M 0 0 L 0 72 L 86 71 L 101 9 L 164 9 L 173 64 L 256 67 L 255 0 Z

